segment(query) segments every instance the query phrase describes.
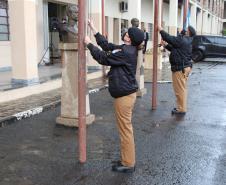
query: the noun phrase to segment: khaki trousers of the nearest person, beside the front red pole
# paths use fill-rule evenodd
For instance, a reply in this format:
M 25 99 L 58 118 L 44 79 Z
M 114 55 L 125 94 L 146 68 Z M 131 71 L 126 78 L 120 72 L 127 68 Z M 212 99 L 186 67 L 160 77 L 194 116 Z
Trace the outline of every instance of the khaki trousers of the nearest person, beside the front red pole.
M 132 125 L 132 111 L 136 93 L 116 98 L 114 101 L 115 116 L 120 136 L 121 161 L 124 166 L 135 165 L 135 144 Z

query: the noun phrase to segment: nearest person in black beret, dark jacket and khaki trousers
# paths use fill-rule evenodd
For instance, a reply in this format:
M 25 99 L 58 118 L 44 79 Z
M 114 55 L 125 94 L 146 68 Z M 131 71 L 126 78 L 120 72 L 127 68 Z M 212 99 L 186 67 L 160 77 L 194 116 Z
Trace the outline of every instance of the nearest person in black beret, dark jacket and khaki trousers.
M 109 92 L 114 99 L 115 115 L 120 135 L 121 159 L 113 161 L 112 170 L 130 173 L 135 170 L 135 144 L 132 127 L 132 110 L 136 101 L 137 47 L 143 42 L 144 33 L 139 28 L 129 28 L 123 35 L 123 45 L 108 43 L 96 31 L 93 23 L 88 25 L 94 33 L 97 44 L 94 46 L 87 36 L 85 43 L 93 58 L 101 65 L 111 66 Z

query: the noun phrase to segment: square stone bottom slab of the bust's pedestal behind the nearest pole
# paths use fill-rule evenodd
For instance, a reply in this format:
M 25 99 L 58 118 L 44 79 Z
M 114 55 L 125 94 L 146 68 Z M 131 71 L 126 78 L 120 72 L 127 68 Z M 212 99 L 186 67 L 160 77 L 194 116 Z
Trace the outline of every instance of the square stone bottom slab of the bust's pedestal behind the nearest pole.
M 86 125 L 91 125 L 94 121 L 95 121 L 94 114 L 89 114 L 86 116 Z M 56 123 L 57 125 L 78 128 L 78 118 L 65 118 L 60 116 L 60 117 L 57 117 Z

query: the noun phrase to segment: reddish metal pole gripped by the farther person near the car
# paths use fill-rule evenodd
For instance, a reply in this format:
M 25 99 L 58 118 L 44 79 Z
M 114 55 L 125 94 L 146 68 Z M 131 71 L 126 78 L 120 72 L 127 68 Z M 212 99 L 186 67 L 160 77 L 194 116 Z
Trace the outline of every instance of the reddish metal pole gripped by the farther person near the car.
M 158 16 L 159 0 L 154 5 L 154 39 L 153 39 L 153 77 L 152 77 L 152 110 L 157 108 L 157 63 L 158 63 Z

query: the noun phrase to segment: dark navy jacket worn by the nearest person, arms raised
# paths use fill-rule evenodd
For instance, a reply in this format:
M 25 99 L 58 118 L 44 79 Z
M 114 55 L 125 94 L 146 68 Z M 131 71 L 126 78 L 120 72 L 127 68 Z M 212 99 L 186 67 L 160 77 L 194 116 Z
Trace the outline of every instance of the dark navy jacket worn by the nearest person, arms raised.
M 108 43 L 100 33 L 97 33 L 95 37 L 103 51 L 93 44 L 88 44 L 87 47 L 99 64 L 111 66 L 108 73 L 111 96 L 118 98 L 136 92 L 138 89 L 136 81 L 137 48 L 132 45 Z

